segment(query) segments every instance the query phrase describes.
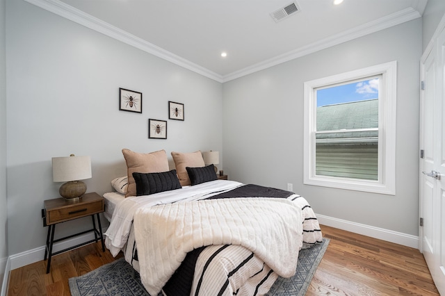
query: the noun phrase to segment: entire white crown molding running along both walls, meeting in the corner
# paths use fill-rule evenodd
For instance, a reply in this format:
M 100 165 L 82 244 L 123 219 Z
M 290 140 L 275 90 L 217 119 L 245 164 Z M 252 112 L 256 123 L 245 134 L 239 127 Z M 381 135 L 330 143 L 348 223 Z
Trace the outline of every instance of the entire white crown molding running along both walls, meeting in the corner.
M 412 19 L 421 17 L 421 13 L 419 13 L 419 11 L 415 10 L 414 8 L 406 8 L 404 10 L 398 11 L 397 13 L 393 13 L 391 15 L 387 15 L 386 17 L 376 19 L 373 22 L 369 22 L 361 26 L 352 28 L 348 31 L 332 35 L 318 42 L 307 44 L 304 47 L 300 47 L 298 49 L 289 51 L 280 56 L 264 60 L 261 63 L 257 63 L 250 67 L 245 67 L 244 69 L 223 76 L 207 68 L 204 68 L 200 65 L 192 63 L 190 60 L 186 60 L 185 58 L 181 58 L 180 56 L 172 54 L 170 51 L 166 51 L 161 47 L 157 47 L 156 45 L 147 42 L 141 38 L 138 38 L 135 35 L 132 35 L 126 31 L 123 31 L 120 28 L 112 26 L 111 24 L 108 24 L 102 21 L 101 19 L 92 17 L 92 15 L 88 15 L 87 13 L 84 13 L 83 11 L 76 9 L 72 6 L 69 6 L 60 0 L 24 0 L 24 1 L 27 1 L 35 6 L 43 8 L 44 10 L 47 10 L 51 13 L 55 13 L 60 17 L 64 17 L 65 19 L 70 19 L 72 22 L 76 22 L 77 24 L 81 24 L 82 26 L 86 26 L 87 28 L 90 28 L 99 33 L 107 35 L 108 37 L 120 40 L 121 42 L 131 45 L 132 47 L 136 47 L 140 50 L 146 51 L 149 54 L 152 54 L 159 58 L 163 58 L 164 60 L 168 60 L 171 63 L 189 69 L 197 74 L 205 76 L 209 79 L 213 79 L 214 81 L 218 81 L 220 83 L 232 81 L 242 76 L 246 76 L 248 74 L 252 74 L 254 72 L 258 72 L 263 69 L 267 69 L 269 67 L 285 63 L 289 60 L 300 58 L 302 56 L 312 54 L 316 51 L 321 51 L 323 49 L 327 49 L 328 47 L 333 47 L 335 45 L 348 42 L 355 38 L 360 38 L 364 35 L 375 33 L 385 28 L 396 26 L 398 24 L 402 24 Z M 419 3 L 419 5 L 416 4 L 417 6 L 423 6 L 423 2 L 421 0 L 413 0 L 413 1 L 414 3 Z

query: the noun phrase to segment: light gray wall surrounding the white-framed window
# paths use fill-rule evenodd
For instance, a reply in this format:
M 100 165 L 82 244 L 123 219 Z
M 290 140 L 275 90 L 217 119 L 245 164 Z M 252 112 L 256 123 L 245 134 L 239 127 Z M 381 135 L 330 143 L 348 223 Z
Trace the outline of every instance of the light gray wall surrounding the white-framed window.
M 416 236 L 419 217 L 421 19 L 223 85 L 225 172 L 286 188 L 316 213 Z M 397 60 L 396 195 L 303 185 L 303 83 Z

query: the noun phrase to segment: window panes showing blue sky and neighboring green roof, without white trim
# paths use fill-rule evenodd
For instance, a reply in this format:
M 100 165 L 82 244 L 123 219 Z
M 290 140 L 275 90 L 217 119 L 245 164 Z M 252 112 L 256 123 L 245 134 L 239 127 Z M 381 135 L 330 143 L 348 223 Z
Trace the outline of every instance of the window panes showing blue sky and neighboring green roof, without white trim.
M 315 174 L 378 180 L 378 100 L 382 75 L 316 92 Z

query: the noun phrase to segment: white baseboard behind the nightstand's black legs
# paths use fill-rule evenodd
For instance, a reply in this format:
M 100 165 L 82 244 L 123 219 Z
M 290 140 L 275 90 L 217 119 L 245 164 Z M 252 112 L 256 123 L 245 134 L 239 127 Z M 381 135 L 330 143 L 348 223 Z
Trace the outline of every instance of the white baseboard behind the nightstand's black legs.
M 102 229 L 102 233 L 106 231 L 108 227 Z M 83 242 L 88 242 L 88 240 L 93 240 L 95 238 L 94 233 L 86 233 L 81 236 L 76 236 L 74 238 L 70 238 L 67 240 L 63 240 L 61 242 L 56 242 L 53 245 L 53 253 L 58 252 L 62 249 L 67 249 L 69 247 L 74 247 L 75 245 L 79 245 Z M 16 268 L 21 268 L 22 266 L 29 265 L 31 263 L 35 263 L 38 261 L 42 261 L 44 257 L 45 246 L 37 247 L 35 249 L 30 249 L 28 251 L 14 254 L 9 256 L 10 260 L 10 270 L 15 270 Z

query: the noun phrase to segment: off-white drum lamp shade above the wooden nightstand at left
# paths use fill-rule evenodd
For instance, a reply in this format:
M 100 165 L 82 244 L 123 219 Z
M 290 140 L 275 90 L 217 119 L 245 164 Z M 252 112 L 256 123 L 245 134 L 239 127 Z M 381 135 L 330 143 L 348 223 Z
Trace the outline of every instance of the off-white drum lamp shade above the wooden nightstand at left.
M 69 182 L 91 178 L 90 156 L 53 157 L 53 181 Z

